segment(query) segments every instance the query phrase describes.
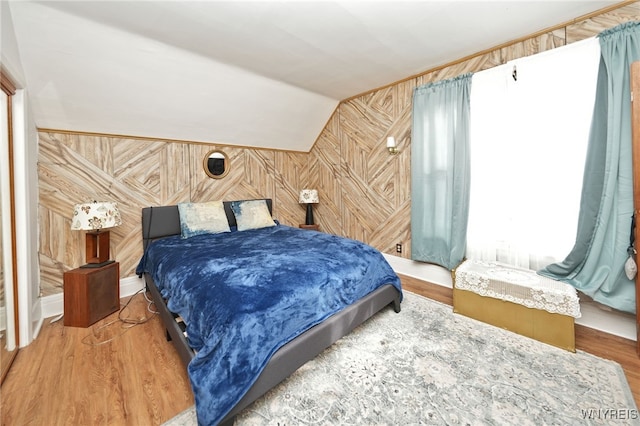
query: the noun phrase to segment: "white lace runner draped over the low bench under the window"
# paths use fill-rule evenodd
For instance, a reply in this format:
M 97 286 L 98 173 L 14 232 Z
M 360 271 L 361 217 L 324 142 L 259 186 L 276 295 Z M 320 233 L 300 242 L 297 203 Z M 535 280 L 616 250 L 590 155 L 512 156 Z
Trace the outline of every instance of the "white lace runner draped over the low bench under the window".
M 465 260 L 455 271 L 455 286 L 553 314 L 581 316 L 574 287 L 529 269 L 499 262 Z

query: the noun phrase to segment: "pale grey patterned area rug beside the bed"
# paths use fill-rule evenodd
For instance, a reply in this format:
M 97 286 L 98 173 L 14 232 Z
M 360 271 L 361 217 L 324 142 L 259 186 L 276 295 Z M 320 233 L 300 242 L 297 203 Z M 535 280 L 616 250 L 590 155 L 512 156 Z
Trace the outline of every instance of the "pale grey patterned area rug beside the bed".
M 405 292 L 242 411 L 236 425 L 637 425 L 619 364 Z M 169 426 L 196 425 L 192 408 Z

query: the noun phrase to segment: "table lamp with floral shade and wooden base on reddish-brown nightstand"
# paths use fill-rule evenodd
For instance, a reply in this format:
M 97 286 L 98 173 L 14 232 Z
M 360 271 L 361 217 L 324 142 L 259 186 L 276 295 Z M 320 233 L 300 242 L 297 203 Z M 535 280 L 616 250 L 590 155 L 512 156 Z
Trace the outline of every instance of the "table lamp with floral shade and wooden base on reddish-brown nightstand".
M 81 268 L 99 268 L 114 262 L 109 260 L 109 231 L 104 229 L 121 224 L 116 203 L 94 201 L 75 205 L 71 229 L 88 231 L 85 236 L 87 263 Z

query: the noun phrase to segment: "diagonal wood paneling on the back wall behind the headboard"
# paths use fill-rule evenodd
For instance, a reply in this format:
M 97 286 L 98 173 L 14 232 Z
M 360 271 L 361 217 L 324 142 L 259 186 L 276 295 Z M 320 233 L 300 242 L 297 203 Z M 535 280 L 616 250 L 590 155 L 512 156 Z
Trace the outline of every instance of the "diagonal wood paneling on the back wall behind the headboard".
M 111 257 L 121 276 L 142 255 L 142 207 L 182 201 L 270 197 L 284 224 L 304 219 L 297 194 L 308 154 L 70 133 L 39 134 L 40 281 L 42 295 L 62 291 L 64 271 L 84 263 L 84 233 L 71 231 L 76 203 L 118 202 L 123 224 L 111 229 Z M 211 149 L 230 157 L 231 171 L 211 179 L 203 159 Z M 301 216 L 302 215 L 302 216 Z

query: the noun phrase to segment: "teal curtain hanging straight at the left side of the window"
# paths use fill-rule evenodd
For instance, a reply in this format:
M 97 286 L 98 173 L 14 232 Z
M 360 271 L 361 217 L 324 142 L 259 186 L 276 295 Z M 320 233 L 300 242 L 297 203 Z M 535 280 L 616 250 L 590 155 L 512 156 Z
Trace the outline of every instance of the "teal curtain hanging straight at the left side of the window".
M 466 250 L 471 74 L 417 87 L 411 137 L 411 258 L 455 268 Z

